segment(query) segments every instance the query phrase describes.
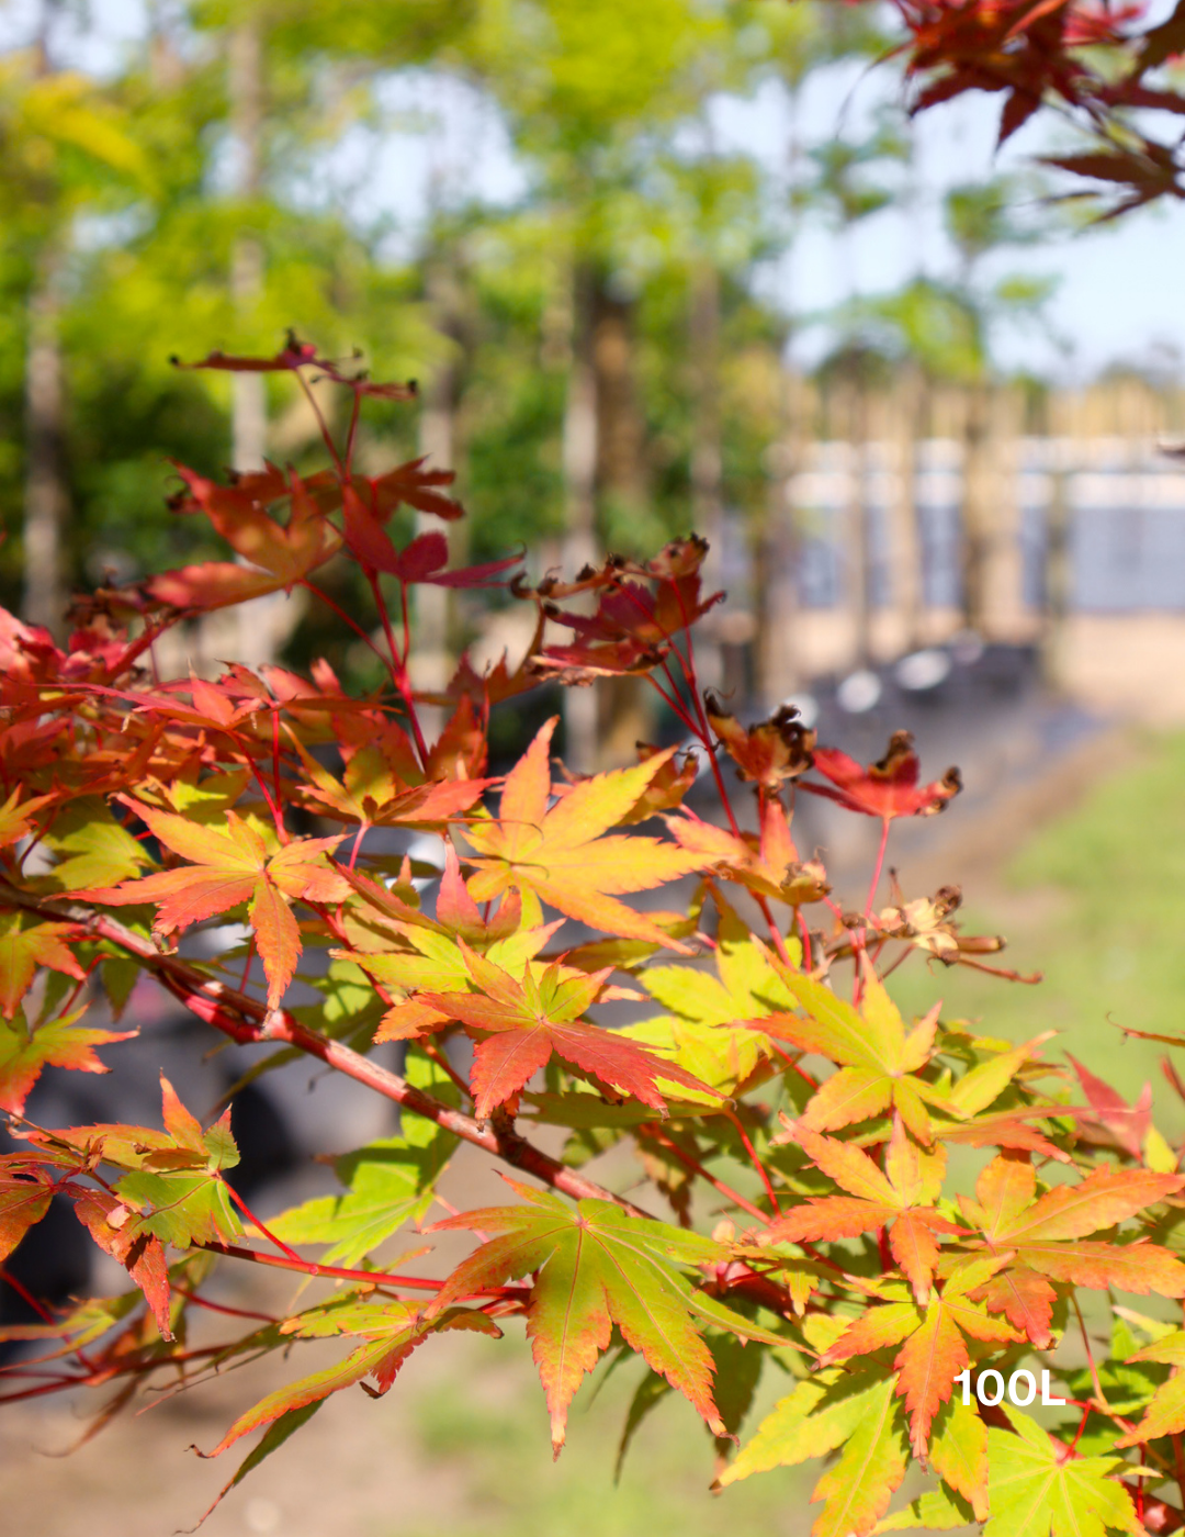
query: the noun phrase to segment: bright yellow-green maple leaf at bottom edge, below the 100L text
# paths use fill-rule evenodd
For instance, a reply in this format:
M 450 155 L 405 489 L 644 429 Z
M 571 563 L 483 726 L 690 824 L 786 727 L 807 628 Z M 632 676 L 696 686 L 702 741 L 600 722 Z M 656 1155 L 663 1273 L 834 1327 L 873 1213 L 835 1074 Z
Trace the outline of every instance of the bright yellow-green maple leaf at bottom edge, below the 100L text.
M 984 1537 L 1140 1537 L 1131 1496 L 1111 1477 L 1122 1457 L 1076 1457 L 1019 1409 L 1004 1406 L 1016 1434 L 988 1431 L 991 1520 Z

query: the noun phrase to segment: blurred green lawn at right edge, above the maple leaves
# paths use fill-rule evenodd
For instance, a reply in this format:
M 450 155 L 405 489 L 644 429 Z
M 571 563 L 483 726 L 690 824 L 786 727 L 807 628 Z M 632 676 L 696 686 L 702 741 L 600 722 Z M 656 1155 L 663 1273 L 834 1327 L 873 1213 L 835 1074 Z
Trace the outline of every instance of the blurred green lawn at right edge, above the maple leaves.
M 1127 1097 L 1151 1079 L 1160 1130 L 1183 1136 L 1185 1105 L 1159 1068 L 1167 1048 L 1117 1027 L 1185 1034 L 1185 735 L 1151 738 L 1134 767 L 1028 838 L 999 835 L 1005 850 L 1024 841 L 987 898 L 965 893 L 965 928 L 1004 933 L 1002 961 L 1045 981 L 1021 987 L 941 965 L 927 978 L 910 961 L 895 981 L 899 1002 L 921 1011 L 941 996 L 945 1017 L 1016 1041 L 1057 1030 L 1048 1056 L 1071 1051 Z M 1185 1051 L 1176 1062 L 1185 1074 Z

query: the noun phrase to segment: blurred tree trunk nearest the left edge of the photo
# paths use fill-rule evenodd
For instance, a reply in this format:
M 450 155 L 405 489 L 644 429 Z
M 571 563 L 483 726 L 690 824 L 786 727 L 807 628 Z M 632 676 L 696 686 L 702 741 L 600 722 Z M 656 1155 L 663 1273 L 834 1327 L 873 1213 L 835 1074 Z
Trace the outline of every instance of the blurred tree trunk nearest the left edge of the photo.
M 58 252 L 37 258 L 25 363 L 25 618 L 55 638 L 66 629 L 66 395 L 63 387 Z

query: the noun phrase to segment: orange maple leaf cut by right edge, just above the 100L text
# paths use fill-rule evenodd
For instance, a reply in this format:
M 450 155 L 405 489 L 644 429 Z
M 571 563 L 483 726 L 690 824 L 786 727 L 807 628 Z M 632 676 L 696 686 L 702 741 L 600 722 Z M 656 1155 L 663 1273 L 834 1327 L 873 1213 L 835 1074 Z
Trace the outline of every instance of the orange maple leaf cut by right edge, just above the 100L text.
M 1037 1196 L 1028 1154 L 1001 1153 L 981 1173 L 976 1199 L 959 1196 L 964 1214 L 981 1228 L 987 1245 L 1013 1254 L 1008 1270 L 985 1283 L 982 1300 L 1044 1349 L 1051 1337 L 1050 1280 L 1097 1290 L 1119 1286 L 1139 1296 L 1185 1296 L 1185 1265 L 1168 1250 L 1140 1242 L 1084 1242 L 1087 1234 L 1134 1217 L 1182 1187 L 1180 1174 L 1096 1170 L 1077 1185 L 1056 1185 Z

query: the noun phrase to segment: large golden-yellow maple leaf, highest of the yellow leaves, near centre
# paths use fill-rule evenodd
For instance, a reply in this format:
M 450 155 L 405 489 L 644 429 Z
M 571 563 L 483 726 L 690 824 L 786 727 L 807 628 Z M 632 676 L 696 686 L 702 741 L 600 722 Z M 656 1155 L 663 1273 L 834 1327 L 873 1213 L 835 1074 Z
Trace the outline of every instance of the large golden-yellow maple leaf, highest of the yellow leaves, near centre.
M 549 810 L 549 745 L 558 721 L 552 716 L 506 776 L 498 819 L 473 821 L 464 828 L 478 851 L 470 861 L 476 867 L 469 882 L 472 895 L 486 902 L 515 887 L 527 924 L 541 922 L 539 904 L 549 902 L 590 928 L 682 950 L 653 919 L 618 896 L 690 875 L 702 868 L 702 858 L 658 838 L 602 836 L 633 810 L 675 749 L 633 768 L 595 775 Z

